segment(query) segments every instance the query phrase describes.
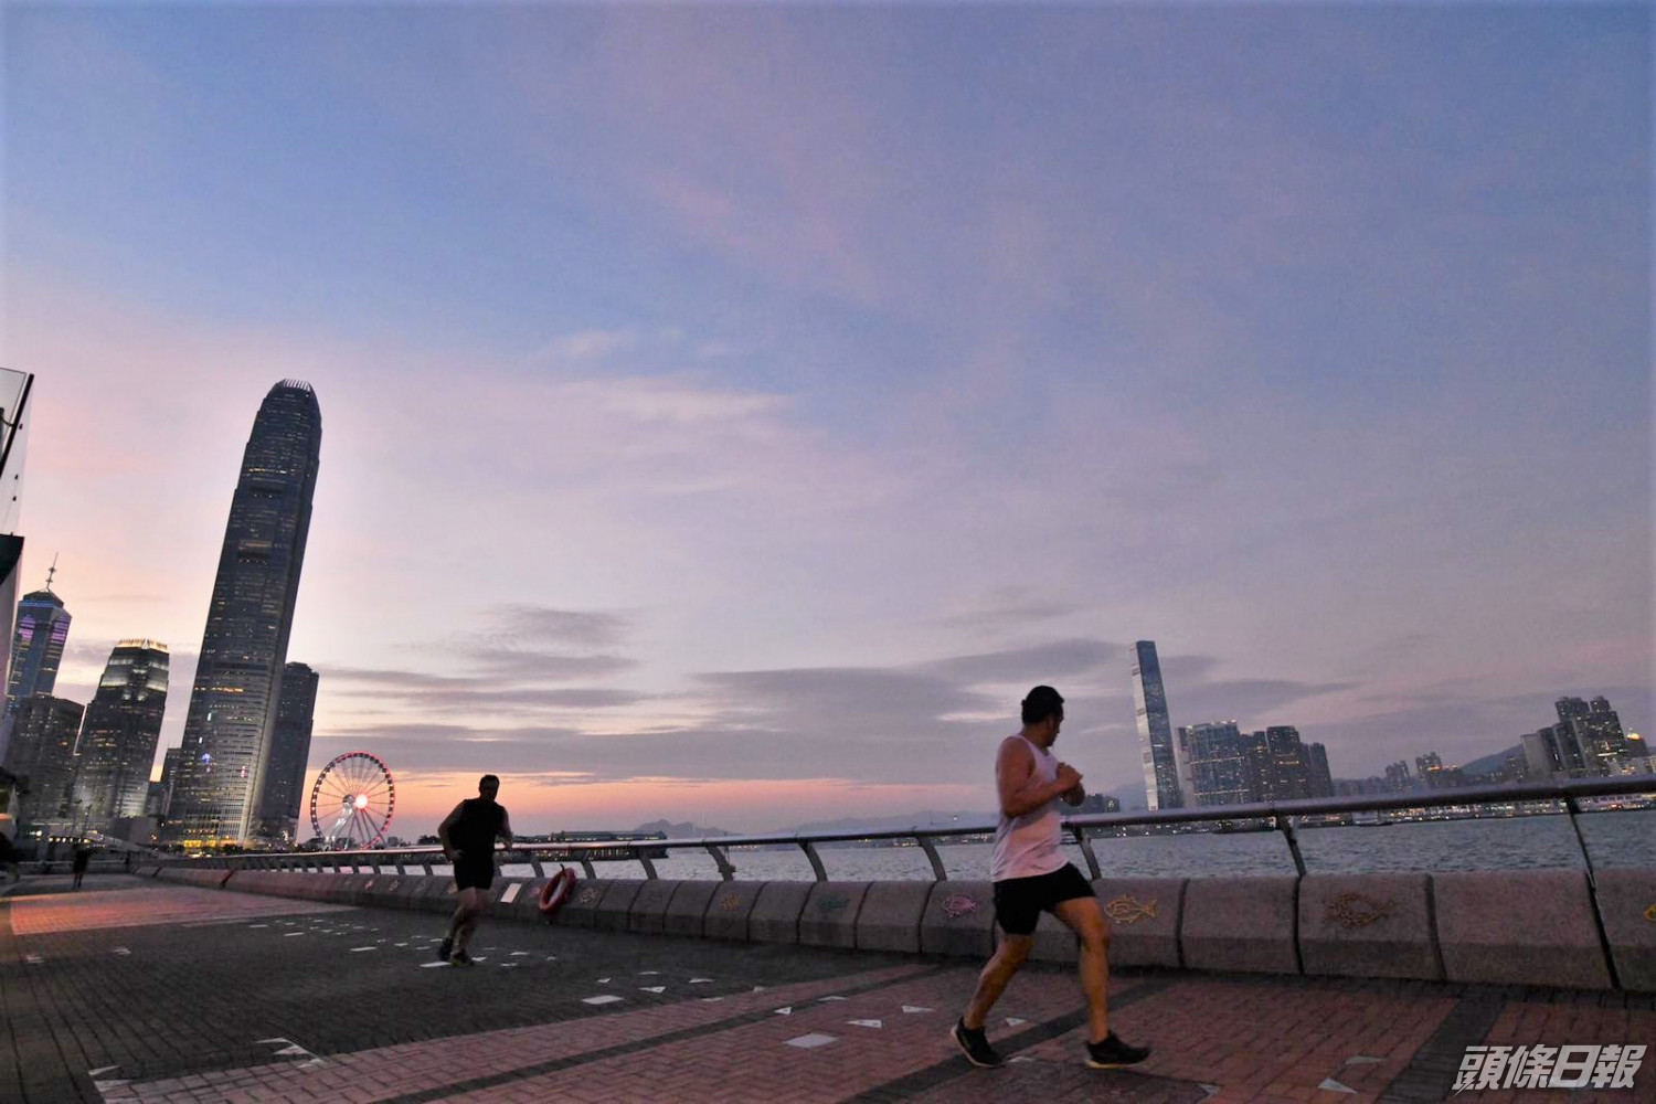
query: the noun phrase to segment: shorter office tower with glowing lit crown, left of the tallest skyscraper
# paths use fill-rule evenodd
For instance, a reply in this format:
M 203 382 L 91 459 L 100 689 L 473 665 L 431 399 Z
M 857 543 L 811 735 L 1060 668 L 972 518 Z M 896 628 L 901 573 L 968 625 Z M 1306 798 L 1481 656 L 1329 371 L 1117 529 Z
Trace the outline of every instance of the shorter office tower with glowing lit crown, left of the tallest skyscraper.
M 86 703 L 76 745 L 75 793 L 89 828 L 144 814 L 149 768 L 156 761 L 167 708 L 167 646 L 121 641 Z

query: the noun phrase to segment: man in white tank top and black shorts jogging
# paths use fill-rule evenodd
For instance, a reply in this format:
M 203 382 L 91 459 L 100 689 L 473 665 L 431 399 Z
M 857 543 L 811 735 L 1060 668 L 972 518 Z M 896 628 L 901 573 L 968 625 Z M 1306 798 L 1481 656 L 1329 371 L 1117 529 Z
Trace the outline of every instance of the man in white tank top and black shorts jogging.
M 954 1025 L 954 1041 L 974 1066 L 999 1066 L 984 1023 L 989 1010 L 1035 947 L 1035 924 L 1052 912 L 1080 938 L 1081 993 L 1086 996 L 1086 1064 L 1093 1069 L 1134 1066 L 1149 1048 L 1128 1046 L 1110 1030 L 1110 922 L 1098 897 L 1060 849 L 1058 799 L 1086 799 L 1081 775 L 1052 753 L 1063 725 L 1063 698 L 1052 687 L 1035 687 L 1023 698 L 1023 728 L 1000 742 L 995 790 L 1000 823 L 989 877 L 995 886 L 995 924 L 1000 945 L 977 978 L 965 1013 Z

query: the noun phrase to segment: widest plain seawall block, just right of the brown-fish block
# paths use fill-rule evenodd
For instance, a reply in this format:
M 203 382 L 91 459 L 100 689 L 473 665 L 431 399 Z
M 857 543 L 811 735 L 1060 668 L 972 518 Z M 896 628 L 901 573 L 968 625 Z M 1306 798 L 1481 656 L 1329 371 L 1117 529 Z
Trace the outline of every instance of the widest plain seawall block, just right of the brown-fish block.
M 1610 988 L 1586 871 L 1432 876 L 1451 982 Z

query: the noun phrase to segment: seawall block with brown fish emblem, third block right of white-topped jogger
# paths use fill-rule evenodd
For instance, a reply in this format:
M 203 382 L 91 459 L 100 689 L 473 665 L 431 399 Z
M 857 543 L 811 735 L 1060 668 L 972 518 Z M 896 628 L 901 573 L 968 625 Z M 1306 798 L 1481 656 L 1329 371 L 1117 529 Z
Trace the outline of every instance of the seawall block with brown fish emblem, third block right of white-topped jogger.
M 1300 881 L 1307 973 L 1442 978 L 1426 874 L 1312 874 Z

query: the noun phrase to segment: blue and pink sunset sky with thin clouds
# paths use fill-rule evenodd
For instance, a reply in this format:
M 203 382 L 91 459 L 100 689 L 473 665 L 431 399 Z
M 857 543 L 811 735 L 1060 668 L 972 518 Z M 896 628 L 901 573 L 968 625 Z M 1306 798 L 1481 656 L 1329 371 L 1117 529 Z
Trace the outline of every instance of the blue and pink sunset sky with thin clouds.
M 8 3 L 56 692 L 308 381 L 311 776 L 394 834 L 989 813 L 1035 684 L 1335 776 L 1653 722 L 1641 5 Z M 159 761 L 161 748 L 157 748 Z

